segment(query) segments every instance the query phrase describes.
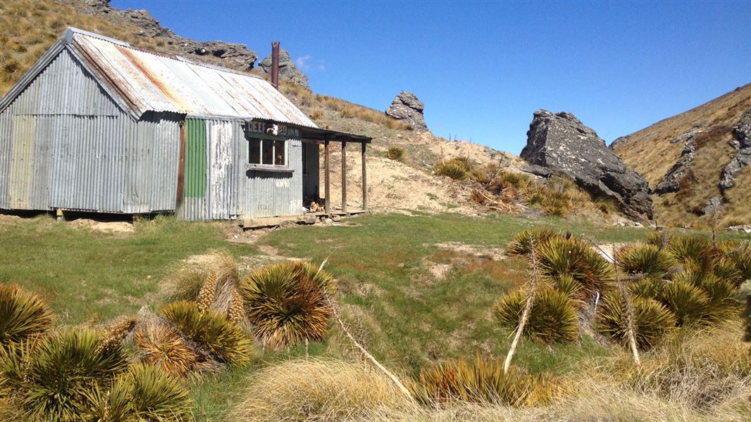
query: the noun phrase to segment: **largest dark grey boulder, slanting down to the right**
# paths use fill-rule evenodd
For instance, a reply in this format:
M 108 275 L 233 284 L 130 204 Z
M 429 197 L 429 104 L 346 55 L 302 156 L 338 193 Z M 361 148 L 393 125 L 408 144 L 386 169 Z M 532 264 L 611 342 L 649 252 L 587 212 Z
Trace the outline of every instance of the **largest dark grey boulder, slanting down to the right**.
M 520 157 L 574 179 L 595 196 L 616 199 L 623 214 L 632 219 L 652 219 L 647 180 L 629 169 L 594 130 L 571 113 L 537 110 Z

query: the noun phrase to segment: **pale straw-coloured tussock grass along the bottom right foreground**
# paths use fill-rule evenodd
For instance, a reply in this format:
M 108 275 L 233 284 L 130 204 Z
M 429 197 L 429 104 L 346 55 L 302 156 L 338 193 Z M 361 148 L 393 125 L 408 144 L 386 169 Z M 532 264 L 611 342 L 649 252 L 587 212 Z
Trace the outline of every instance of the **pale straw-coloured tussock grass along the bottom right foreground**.
M 229 421 L 747 421 L 749 355 L 740 323 L 684 331 L 642 355 L 584 361 L 572 391 L 549 406 L 422 406 L 378 371 L 333 360 L 291 361 L 256 373 Z

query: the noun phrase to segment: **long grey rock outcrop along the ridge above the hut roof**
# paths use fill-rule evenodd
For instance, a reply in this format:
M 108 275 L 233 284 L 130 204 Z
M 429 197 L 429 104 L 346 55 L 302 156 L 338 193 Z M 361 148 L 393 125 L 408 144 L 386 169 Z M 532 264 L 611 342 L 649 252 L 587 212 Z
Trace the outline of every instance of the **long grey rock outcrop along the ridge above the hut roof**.
M 225 43 L 219 40 L 201 42 L 180 37 L 169 28 L 161 26 L 148 10 L 119 10 L 110 6 L 110 0 L 86 0 L 81 3 L 74 2 L 71 5 L 83 7 L 85 13 L 102 16 L 114 25 L 136 26 L 140 29 L 137 35 L 163 41 L 164 46 L 160 49 L 164 52 L 195 58 L 198 61 L 210 61 L 235 70 L 251 70 L 258 59 L 258 55 L 244 44 Z

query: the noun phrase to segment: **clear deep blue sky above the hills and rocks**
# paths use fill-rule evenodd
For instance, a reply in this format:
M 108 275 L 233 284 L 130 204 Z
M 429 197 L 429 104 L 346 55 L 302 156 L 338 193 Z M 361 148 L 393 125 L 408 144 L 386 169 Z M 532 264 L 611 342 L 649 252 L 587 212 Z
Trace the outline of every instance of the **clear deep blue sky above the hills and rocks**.
M 751 1 L 135 1 L 183 37 L 279 40 L 313 91 L 424 101 L 436 135 L 518 154 L 535 109 L 611 142 L 751 82 Z

